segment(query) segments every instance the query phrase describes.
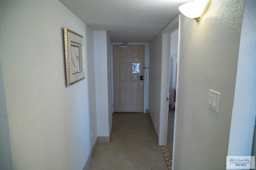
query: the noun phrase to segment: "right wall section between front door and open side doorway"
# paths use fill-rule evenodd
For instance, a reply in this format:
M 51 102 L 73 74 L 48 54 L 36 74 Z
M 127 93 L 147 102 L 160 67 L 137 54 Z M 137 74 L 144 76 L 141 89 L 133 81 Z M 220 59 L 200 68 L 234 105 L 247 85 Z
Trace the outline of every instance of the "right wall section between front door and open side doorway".
M 162 69 L 162 32 L 150 42 L 150 70 L 149 70 L 149 96 L 148 110 L 152 118 L 156 132 L 159 135 L 160 117 L 160 85 Z

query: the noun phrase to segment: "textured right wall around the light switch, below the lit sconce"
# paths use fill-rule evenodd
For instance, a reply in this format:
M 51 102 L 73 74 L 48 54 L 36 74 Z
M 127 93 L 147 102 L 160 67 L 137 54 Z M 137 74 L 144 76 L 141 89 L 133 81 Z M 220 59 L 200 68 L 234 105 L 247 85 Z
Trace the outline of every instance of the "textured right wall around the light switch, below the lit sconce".
M 225 169 L 244 1 L 211 0 L 199 22 L 182 15 L 173 168 Z M 220 109 L 208 108 L 208 90 Z

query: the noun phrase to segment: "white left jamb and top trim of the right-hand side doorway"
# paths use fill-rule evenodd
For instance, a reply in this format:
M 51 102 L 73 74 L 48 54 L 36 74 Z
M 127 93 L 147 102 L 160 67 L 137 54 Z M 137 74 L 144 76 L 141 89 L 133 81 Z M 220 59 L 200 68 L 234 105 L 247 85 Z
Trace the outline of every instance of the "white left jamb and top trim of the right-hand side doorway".
M 170 81 L 168 81 L 168 79 L 170 78 L 170 33 L 176 31 L 178 29 L 178 26 L 179 26 L 179 16 L 176 17 L 162 31 L 162 70 L 161 70 L 159 138 L 158 138 L 158 145 L 160 146 L 167 145 L 169 101 L 166 101 L 166 98 L 167 97 L 169 98 L 169 84 L 170 84 Z M 179 44 L 178 44 L 178 47 L 179 47 Z M 174 129 L 175 129 L 175 122 L 174 122 Z

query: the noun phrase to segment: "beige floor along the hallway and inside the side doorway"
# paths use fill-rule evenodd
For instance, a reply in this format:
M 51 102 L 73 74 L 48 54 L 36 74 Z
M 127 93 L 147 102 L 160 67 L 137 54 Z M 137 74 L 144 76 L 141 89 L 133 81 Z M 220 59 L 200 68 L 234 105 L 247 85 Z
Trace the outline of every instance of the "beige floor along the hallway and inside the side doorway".
M 168 117 L 172 154 L 174 110 Z M 170 125 L 169 125 L 170 124 Z M 114 113 L 110 143 L 96 143 L 89 170 L 168 170 L 148 114 Z

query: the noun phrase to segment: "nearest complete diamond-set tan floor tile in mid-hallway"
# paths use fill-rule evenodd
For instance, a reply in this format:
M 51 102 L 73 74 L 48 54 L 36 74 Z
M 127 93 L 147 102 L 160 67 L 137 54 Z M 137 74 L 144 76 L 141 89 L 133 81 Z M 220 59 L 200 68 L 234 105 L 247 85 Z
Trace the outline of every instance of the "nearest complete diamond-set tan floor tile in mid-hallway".
M 131 135 L 128 135 L 126 137 L 123 137 L 122 139 L 113 142 L 113 145 L 115 147 L 118 147 L 118 149 L 121 149 L 126 154 L 142 147 L 143 144 L 144 143 L 142 141 L 132 137 Z

